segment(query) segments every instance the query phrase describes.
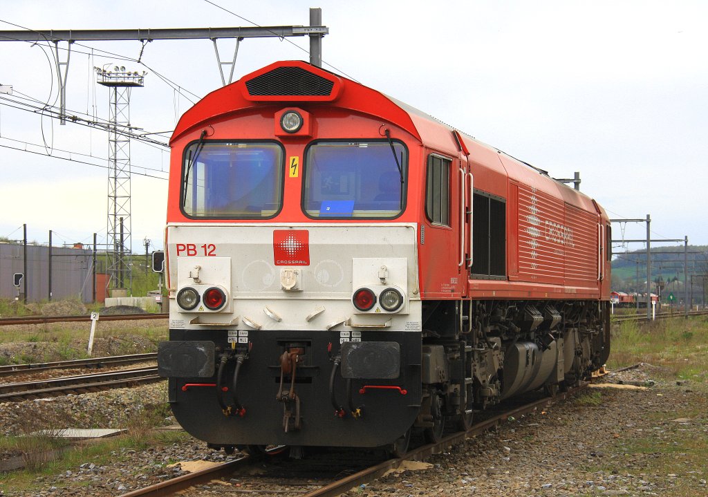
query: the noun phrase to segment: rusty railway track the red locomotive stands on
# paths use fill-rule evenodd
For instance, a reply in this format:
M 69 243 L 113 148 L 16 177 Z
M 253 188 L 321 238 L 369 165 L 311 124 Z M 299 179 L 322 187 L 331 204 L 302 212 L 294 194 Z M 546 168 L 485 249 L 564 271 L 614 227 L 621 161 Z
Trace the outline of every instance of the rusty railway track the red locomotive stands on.
M 571 392 L 558 394 L 555 397 L 536 399 L 521 406 L 494 413 L 491 417 L 484 419 L 484 421 L 474 423 L 472 428 L 466 432 L 459 431 L 452 433 L 442 438 L 440 442 L 414 448 L 406 454 L 406 457 L 401 459 L 382 460 L 379 458 L 375 460 L 375 464 L 368 464 L 361 468 L 355 467 L 355 464 L 350 462 L 348 471 L 339 471 L 340 474 L 333 477 L 331 476 L 332 471 L 326 471 L 324 472 L 324 476 L 322 476 L 322 473 L 319 472 L 321 465 L 316 464 L 316 462 L 314 464 L 316 471 L 318 471 L 316 476 L 310 474 L 307 478 L 304 478 L 302 475 L 297 474 L 291 477 L 289 474 L 279 472 L 279 466 L 272 462 L 265 462 L 266 476 L 258 476 L 252 474 L 252 472 L 246 472 L 246 468 L 256 461 L 262 462 L 262 459 L 246 456 L 241 457 L 241 459 L 218 464 L 214 467 L 202 469 L 198 472 L 178 476 L 168 481 L 161 481 L 159 484 L 148 486 L 144 489 L 124 493 L 120 497 L 166 497 L 173 496 L 187 489 L 189 489 L 187 494 L 190 496 L 208 495 L 217 497 L 233 496 L 237 493 L 251 493 L 253 495 L 268 495 L 270 493 L 272 495 L 290 494 L 302 497 L 335 497 L 356 486 L 367 484 L 380 478 L 388 472 L 389 469 L 396 469 L 401 466 L 404 461 L 422 460 L 433 454 L 450 450 L 450 447 L 464 442 L 467 438 L 472 438 L 486 430 L 496 428 L 496 426 L 501 425 L 501 423 L 504 423 L 510 418 L 518 418 L 524 414 L 539 411 L 554 401 L 568 398 L 581 388 L 582 387 L 579 387 L 578 389 L 573 389 Z M 341 469 L 341 465 L 338 464 L 338 462 L 334 462 L 329 456 L 326 457 L 326 464 L 334 467 L 335 470 Z M 290 460 L 287 464 L 300 463 L 298 463 L 297 460 Z M 312 472 L 313 464 L 311 459 L 306 459 L 304 465 L 309 466 Z M 244 472 L 244 474 L 248 475 L 244 476 L 244 479 L 247 478 L 249 482 L 255 482 L 253 488 L 246 488 L 241 484 L 237 487 L 236 484 L 230 482 L 232 479 L 238 480 L 240 472 Z M 229 479 L 229 483 L 222 481 L 219 484 L 214 484 L 214 481 L 219 479 Z M 210 484 L 210 482 L 212 483 Z

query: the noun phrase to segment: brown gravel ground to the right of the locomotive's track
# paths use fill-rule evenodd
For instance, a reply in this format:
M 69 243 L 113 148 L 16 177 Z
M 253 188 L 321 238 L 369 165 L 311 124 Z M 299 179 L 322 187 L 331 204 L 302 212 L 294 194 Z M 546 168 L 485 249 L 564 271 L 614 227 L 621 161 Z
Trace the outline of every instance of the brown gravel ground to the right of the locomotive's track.
M 644 366 L 609 381 L 649 379 L 651 368 Z M 676 441 L 685 430 L 708 438 L 705 410 L 695 418 L 678 417 L 693 406 L 706 406 L 704 394 L 685 385 L 593 389 L 434 456 L 428 470 L 390 474 L 348 495 L 707 496 L 708 471 L 684 464 L 690 448 Z M 676 449 L 666 473 L 646 470 L 662 452 L 624 452 L 632 439 L 648 433 Z

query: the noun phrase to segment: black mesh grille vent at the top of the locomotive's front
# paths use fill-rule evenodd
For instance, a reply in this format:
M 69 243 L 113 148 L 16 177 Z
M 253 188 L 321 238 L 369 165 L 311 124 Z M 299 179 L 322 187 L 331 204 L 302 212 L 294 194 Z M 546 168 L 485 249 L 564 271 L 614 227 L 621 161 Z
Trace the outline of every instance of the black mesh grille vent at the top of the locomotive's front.
M 278 67 L 246 81 L 251 96 L 329 96 L 333 81 L 300 67 Z

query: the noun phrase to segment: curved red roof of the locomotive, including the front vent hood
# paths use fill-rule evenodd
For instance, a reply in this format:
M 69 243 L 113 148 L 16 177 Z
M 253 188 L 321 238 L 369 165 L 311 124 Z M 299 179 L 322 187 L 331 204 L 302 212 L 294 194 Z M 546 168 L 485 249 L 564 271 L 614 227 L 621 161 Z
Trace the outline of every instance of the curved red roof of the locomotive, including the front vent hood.
M 275 90 L 273 89 L 275 88 Z M 190 108 L 176 126 L 171 143 L 204 122 L 226 117 L 259 105 L 282 102 L 333 103 L 337 107 L 374 115 L 397 125 L 431 149 L 457 150 L 455 128 L 421 110 L 372 88 L 302 61 L 274 62 L 239 81 L 219 88 Z M 588 196 L 554 181 L 539 170 L 504 154 L 495 147 L 459 134 L 470 152 L 469 161 L 489 193 L 506 198 L 508 179 L 541 190 L 588 212 L 603 210 Z

